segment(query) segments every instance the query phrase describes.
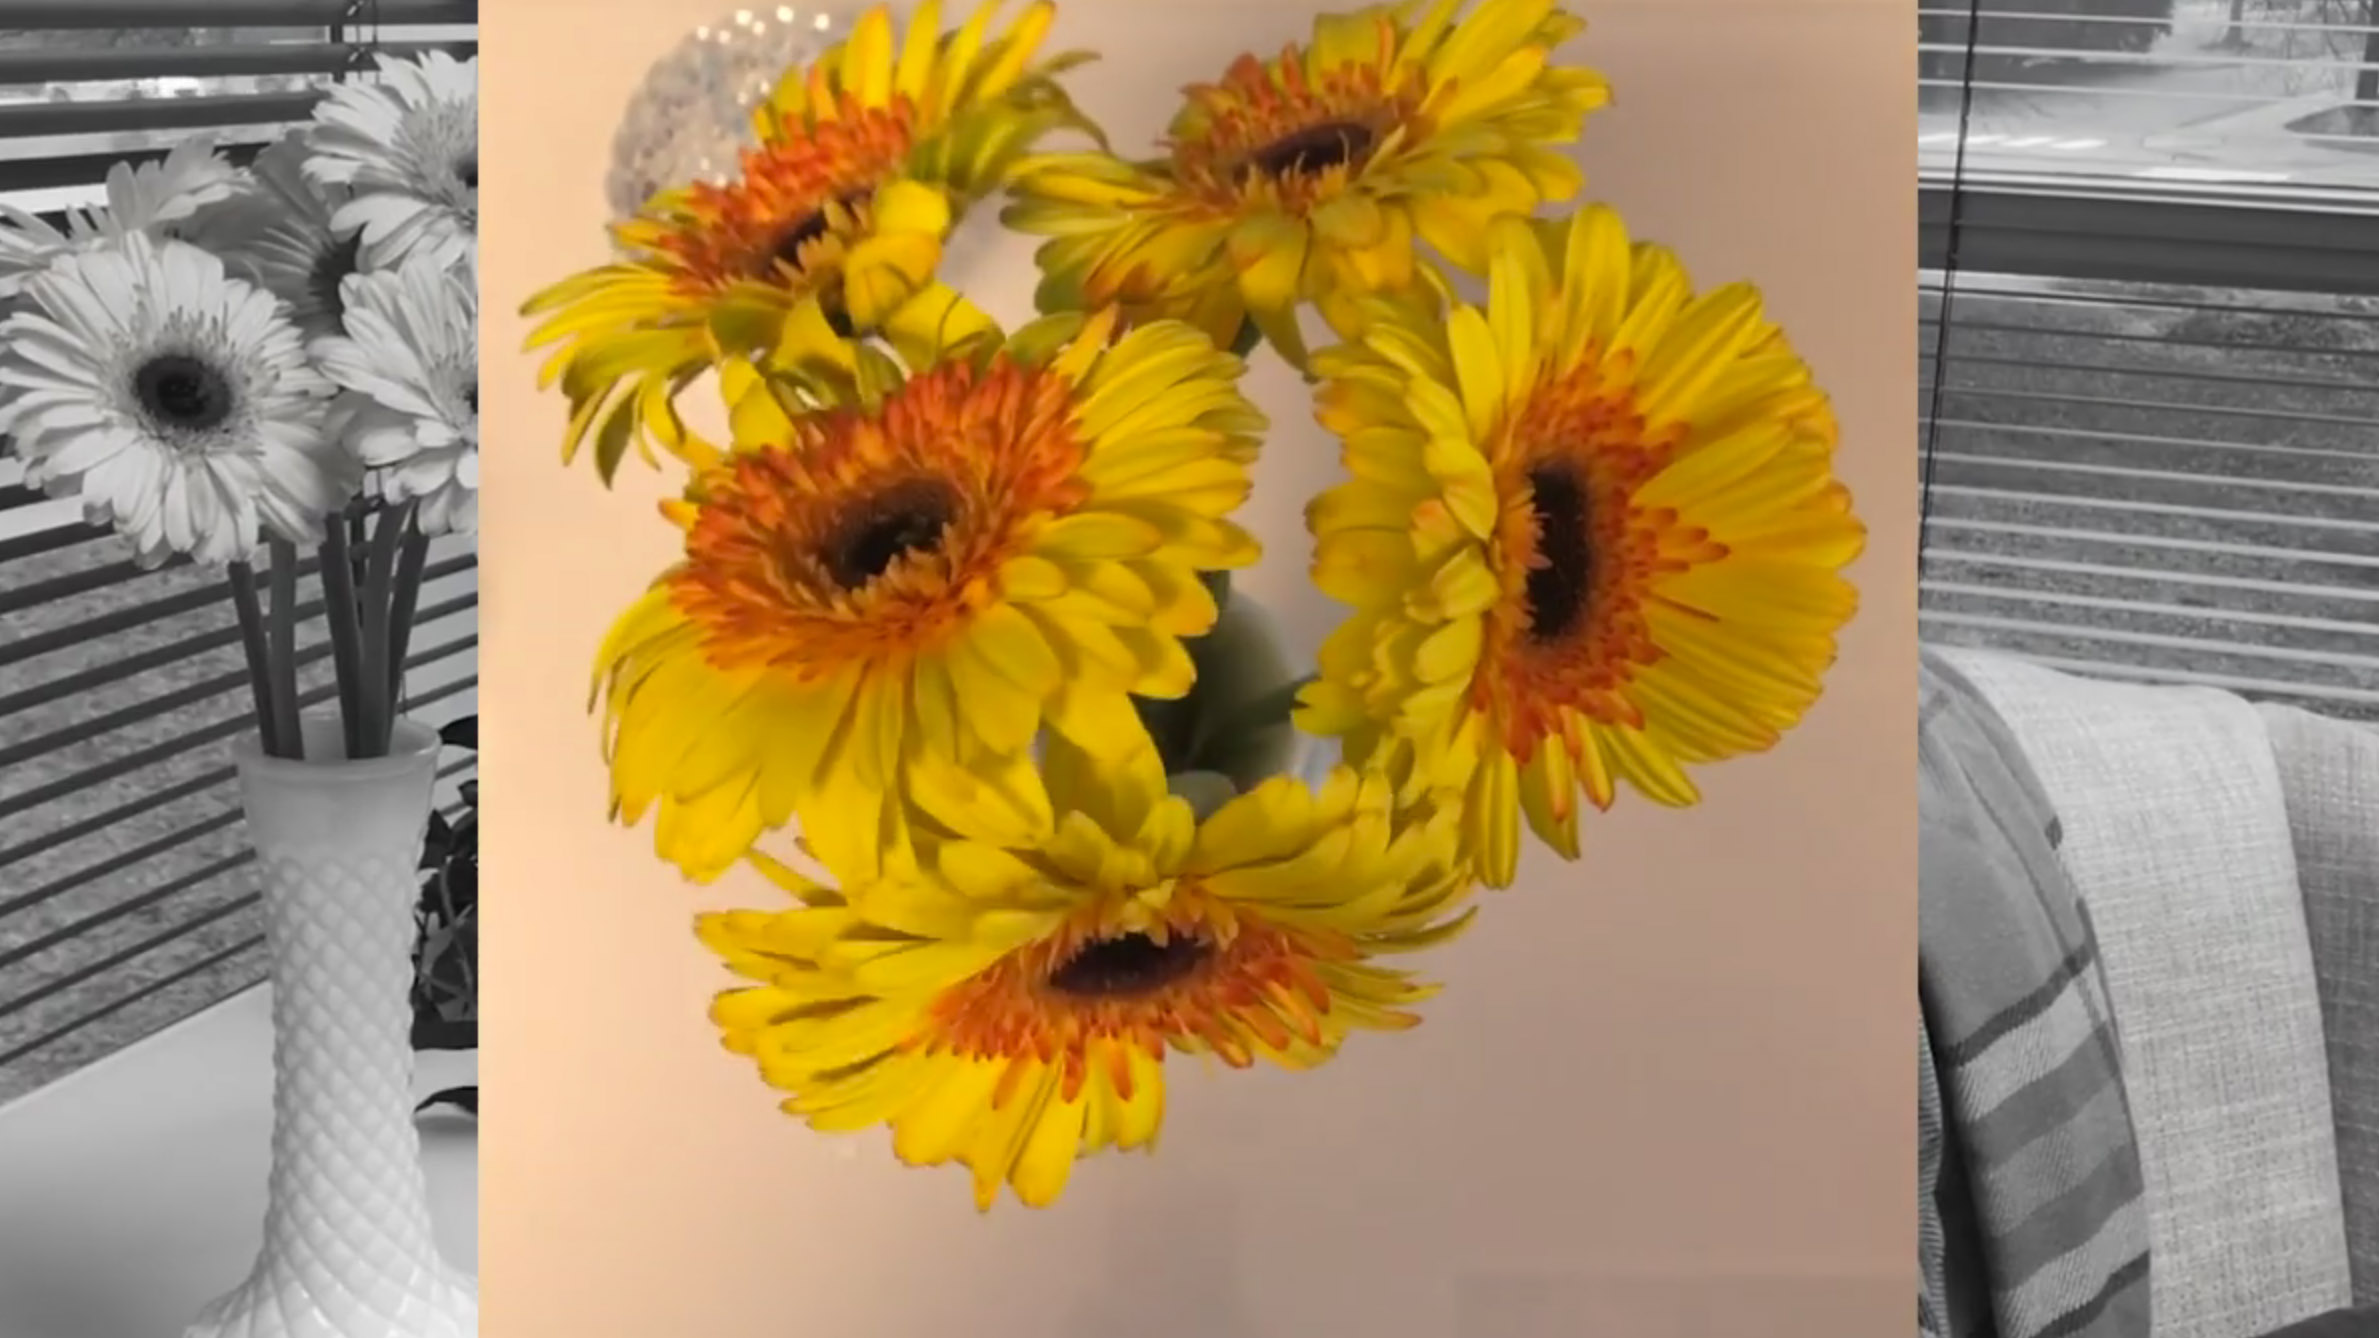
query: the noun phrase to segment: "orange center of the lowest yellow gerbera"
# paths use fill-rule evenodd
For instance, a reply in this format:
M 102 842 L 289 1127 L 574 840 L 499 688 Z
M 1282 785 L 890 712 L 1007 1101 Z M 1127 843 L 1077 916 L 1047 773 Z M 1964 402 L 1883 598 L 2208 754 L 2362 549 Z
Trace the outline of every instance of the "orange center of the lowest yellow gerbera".
M 1351 959 L 1344 936 L 1289 931 L 1180 886 L 1156 931 L 1087 912 L 944 990 L 909 1048 L 1059 1064 L 1066 1100 L 1104 1062 L 1130 1098 L 1130 1048 L 1161 1059 L 1204 1045 L 1244 1069 L 1258 1045 L 1320 1043 L 1330 986 L 1316 967 Z

